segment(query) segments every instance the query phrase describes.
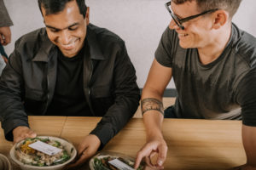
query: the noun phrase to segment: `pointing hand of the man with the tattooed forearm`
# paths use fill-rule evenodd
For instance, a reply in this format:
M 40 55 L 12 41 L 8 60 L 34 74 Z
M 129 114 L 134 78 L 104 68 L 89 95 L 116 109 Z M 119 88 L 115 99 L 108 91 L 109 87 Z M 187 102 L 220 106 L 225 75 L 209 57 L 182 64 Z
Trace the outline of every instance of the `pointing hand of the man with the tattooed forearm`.
M 149 167 L 154 169 L 164 169 L 163 163 L 166 161 L 167 150 L 167 144 L 164 139 L 149 139 L 148 143 L 137 152 L 134 168 L 137 169 L 140 162 L 143 160 L 143 157 L 145 157 L 145 161 Z M 157 156 L 155 162 L 153 161 L 154 156 Z

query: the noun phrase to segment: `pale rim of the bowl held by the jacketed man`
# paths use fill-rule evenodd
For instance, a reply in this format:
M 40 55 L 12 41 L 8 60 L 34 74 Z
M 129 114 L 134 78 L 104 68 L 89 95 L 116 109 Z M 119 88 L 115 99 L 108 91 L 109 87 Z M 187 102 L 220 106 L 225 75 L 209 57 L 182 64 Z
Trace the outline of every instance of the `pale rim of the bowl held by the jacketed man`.
M 63 162 L 62 164 L 53 165 L 53 166 L 38 167 L 38 166 L 32 166 L 32 165 L 25 164 L 25 163 L 19 161 L 15 155 L 15 149 L 20 148 L 20 145 L 23 144 L 23 142 L 24 142 L 24 140 L 21 140 L 20 142 L 16 143 L 9 151 L 9 155 L 10 155 L 11 159 L 13 161 L 15 161 L 15 163 L 17 163 L 21 169 L 23 169 L 23 170 L 59 170 L 59 169 L 62 169 L 63 167 L 65 167 L 71 161 L 73 161 L 77 155 L 77 150 L 75 149 L 73 144 L 68 142 L 66 139 L 61 139 L 61 138 L 52 137 L 52 136 L 38 136 L 38 138 L 55 140 L 55 141 L 60 142 L 61 145 L 63 145 L 65 147 L 65 150 L 67 150 L 67 153 L 70 155 L 70 159 Z

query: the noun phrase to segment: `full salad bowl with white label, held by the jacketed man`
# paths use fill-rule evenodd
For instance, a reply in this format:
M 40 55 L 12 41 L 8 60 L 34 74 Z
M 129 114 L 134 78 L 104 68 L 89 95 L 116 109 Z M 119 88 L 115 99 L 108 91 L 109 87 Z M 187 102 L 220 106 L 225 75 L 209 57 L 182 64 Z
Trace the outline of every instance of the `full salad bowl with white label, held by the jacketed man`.
M 66 139 L 38 136 L 16 143 L 9 155 L 24 170 L 58 170 L 74 160 L 77 150 Z

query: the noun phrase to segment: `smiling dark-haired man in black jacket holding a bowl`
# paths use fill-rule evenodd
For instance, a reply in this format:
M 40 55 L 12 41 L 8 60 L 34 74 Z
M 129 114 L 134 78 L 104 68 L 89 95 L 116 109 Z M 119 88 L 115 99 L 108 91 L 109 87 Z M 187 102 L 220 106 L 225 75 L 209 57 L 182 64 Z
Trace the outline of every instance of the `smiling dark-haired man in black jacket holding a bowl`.
M 15 43 L 0 82 L 5 138 L 32 138 L 27 115 L 102 116 L 79 144 L 78 166 L 137 111 L 139 89 L 125 42 L 89 24 L 84 0 L 38 0 L 46 28 Z

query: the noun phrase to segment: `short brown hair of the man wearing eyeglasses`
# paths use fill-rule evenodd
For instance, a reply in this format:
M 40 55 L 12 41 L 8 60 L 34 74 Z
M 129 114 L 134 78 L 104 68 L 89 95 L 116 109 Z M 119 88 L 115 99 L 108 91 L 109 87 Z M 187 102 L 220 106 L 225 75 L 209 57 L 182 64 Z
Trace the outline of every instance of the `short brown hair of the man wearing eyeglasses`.
M 172 0 L 173 3 L 182 4 L 186 2 L 195 1 L 198 10 L 203 12 L 212 8 L 224 9 L 230 14 L 230 19 L 236 14 L 236 10 L 239 8 L 241 0 Z

